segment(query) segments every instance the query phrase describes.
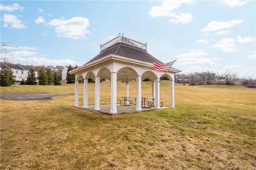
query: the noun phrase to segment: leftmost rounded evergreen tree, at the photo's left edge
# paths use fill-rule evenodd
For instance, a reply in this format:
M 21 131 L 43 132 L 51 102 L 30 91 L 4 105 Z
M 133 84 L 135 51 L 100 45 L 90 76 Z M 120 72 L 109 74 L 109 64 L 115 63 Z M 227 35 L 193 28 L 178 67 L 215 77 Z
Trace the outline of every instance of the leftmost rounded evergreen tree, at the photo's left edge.
M 0 86 L 11 86 L 15 82 L 13 71 L 4 64 L 2 65 L 0 78 Z

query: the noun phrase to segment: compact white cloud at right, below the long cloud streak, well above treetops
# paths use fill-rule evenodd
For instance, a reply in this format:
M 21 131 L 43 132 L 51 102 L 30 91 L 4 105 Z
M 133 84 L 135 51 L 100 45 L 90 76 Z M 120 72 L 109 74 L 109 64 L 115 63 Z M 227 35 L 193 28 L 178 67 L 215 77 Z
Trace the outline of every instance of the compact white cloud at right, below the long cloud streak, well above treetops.
M 214 47 L 221 49 L 223 52 L 236 52 L 238 51 L 236 49 L 236 46 L 234 45 L 234 39 L 233 38 L 223 38 L 220 39 L 219 43 L 216 43 L 214 45 L 209 45 L 208 47 Z

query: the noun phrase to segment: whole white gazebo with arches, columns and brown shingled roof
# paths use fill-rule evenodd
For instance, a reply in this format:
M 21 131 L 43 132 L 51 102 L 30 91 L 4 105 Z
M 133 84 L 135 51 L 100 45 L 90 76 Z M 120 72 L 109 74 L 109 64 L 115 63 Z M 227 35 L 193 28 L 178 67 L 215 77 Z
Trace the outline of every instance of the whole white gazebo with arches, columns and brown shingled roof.
M 88 79 L 95 81 L 95 104 L 94 110 L 100 111 L 100 80 L 111 81 L 110 115 L 119 114 L 117 111 L 117 81 L 126 84 L 126 97 L 129 96 L 129 83 L 136 81 L 136 107 L 134 111 L 142 111 L 142 81 L 152 81 L 152 99 L 154 109 L 160 109 L 160 79 L 162 76 L 170 80 L 170 107 L 174 107 L 174 74 L 181 70 L 170 67 L 167 71 L 157 71 L 153 62 L 164 65 L 147 52 L 147 43 L 140 43 L 119 36 L 103 45 L 100 44 L 100 53 L 84 65 L 71 70 L 75 75 L 75 106 L 78 107 L 78 82 L 84 79 L 84 103 L 83 108 L 88 108 Z M 128 102 L 128 101 L 127 101 Z

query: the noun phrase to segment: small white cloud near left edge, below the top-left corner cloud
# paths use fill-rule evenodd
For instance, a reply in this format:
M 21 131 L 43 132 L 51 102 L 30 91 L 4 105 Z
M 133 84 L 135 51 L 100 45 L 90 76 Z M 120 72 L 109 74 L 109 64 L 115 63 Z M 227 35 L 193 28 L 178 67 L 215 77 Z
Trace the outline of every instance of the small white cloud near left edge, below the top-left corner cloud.
M 10 25 L 10 28 L 26 28 L 26 26 L 22 24 L 22 21 L 15 15 L 4 14 L 2 20 L 4 21 L 4 27 L 8 27 Z

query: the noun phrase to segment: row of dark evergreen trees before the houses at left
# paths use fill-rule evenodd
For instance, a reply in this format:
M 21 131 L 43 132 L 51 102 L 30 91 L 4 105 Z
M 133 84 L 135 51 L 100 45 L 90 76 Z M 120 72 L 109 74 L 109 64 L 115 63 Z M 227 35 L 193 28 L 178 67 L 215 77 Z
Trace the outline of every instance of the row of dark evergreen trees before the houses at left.
M 66 80 L 67 83 L 75 83 L 75 75 L 68 73 L 72 69 L 77 68 L 68 66 Z M 13 75 L 13 71 L 10 67 L 6 65 L 2 65 L 1 73 L 0 73 L 0 86 L 11 86 L 15 82 L 15 76 Z M 62 81 L 62 70 L 52 71 L 50 68 L 41 67 L 37 73 L 35 73 L 34 67 L 28 71 L 28 77 L 26 81 L 22 79 L 21 85 L 36 85 L 38 80 L 39 85 L 61 85 Z

